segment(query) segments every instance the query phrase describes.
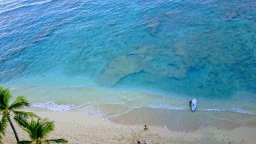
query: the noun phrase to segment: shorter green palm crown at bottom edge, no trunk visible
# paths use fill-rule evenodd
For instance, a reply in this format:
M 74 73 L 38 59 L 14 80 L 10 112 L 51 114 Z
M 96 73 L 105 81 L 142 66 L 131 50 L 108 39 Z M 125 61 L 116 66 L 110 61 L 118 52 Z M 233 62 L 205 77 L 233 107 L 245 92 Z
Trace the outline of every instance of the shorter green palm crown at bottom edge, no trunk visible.
M 22 122 L 22 129 L 29 134 L 30 141 L 19 141 L 19 144 L 53 144 L 53 143 L 68 143 L 65 139 L 51 139 L 47 140 L 47 135 L 54 130 L 54 122 L 47 118 L 38 118 L 31 122 L 24 120 Z

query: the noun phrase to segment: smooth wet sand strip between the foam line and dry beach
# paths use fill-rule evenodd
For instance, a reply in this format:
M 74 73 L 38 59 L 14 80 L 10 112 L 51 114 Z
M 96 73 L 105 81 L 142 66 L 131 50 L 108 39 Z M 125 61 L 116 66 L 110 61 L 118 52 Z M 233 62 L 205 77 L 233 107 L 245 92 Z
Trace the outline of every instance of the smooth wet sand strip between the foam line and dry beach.
M 232 130 L 238 127 L 256 128 L 256 116 L 232 111 L 189 111 L 160 108 L 138 108 L 109 118 L 112 122 L 126 125 L 156 125 L 169 131 L 195 132 L 207 127 Z M 250 125 L 250 126 L 249 126 Z

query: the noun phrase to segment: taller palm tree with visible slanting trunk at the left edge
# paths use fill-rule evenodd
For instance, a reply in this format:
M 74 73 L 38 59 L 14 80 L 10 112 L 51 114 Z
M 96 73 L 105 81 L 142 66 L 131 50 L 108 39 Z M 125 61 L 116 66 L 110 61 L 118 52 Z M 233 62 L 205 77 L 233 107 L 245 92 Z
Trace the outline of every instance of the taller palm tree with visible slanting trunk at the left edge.
M 29 106 L 29 102 L 24 96 L 20 95 L 14 100 L 14 102 L 12 102 L 12 104 L 9 104 L 10 99 L 12 99 L 12 94 L 10 93 L 10 90 L 8 90 L 8 88 L 3 88 L 0 86 L 0 114 L 2 115 L 0 121 L 0 133 L 4 135 L 4 131 L 6 130 L 7 124 L 9 122 L 15 138 L 17 142 L 19 142 L 19 137 L 15 130 L 11 117 L 13 117 L 15 122 L 20 124 L 21 120 L 29 117 L 35 117 L 36 115 L 31 112 L 18 110 Z M 2 136 L 0 136 L 0 138 L 2 138 Z

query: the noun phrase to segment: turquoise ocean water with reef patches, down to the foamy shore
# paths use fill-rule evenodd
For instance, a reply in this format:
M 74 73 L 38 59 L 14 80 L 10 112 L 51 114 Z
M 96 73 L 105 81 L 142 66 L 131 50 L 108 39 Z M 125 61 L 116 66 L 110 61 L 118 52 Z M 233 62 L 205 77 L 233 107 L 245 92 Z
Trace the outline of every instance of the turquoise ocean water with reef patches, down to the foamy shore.
M 188 110 L 191 97 L 253 114 L 256 1 L 0 0 L 0 83 L 101 117 Z

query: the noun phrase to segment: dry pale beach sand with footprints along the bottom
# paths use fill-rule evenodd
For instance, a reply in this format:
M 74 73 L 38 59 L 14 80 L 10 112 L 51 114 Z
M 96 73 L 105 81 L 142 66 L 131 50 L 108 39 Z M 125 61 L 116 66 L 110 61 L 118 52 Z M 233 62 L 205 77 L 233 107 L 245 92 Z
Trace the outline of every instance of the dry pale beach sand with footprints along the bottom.
M 148 144 L 158 143 L 225 143 L 225 144 L 255 144 L 256 122 L 251 121 L 235 129 L 205 127 L 193 132 L 169 131 L 164 127 L 148 125 L 148 131 L 143 125 L 116 124 L 100 118 L 92 118 L 76 111 L 54 112 L 47 109 L 33 109 L 38 116 L 50 118 L 56 122 L 55 131 L 49 138 L 65 138 L 69 143 L 131 143 L 138 140 Z M 193 124 L 191 124 L 193 125 Z M 226 127 L 227 128 L 227 127 Z M 20 140 L 28 140 L 28 135 L 17 128 Z M 12 129 L 8 126 L 4 144 L 15 143 Z

